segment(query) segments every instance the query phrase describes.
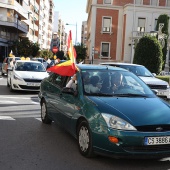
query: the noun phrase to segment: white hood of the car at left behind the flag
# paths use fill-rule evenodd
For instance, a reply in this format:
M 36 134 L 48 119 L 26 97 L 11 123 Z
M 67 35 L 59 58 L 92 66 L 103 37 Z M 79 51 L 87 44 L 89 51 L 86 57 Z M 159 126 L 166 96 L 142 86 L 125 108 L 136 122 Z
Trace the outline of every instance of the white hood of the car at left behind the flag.
M 42 80 L 45 77 L 48 77 L 49 74 L 47 72 L 31 72 L 31 71 L 15 71 L 16 75 L 24 79 L 39 79 Z

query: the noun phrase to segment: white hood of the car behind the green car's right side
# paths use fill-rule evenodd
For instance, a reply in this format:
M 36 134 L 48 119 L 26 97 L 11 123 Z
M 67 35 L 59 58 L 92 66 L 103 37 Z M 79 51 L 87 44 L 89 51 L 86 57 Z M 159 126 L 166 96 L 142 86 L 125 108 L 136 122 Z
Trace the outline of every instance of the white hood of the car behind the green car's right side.
M 168 85 L 166 81 L 163 81 L 161 79 L 155 78 L 155 77 L 142 77 L 139 76 L 146 84 L 150 85 Z

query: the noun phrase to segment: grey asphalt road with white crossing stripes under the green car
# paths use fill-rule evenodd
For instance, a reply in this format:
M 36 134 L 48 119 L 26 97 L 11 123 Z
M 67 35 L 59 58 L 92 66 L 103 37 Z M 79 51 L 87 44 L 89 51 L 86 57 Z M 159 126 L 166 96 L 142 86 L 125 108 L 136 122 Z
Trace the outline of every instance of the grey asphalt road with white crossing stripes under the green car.
M 162 160 L 87 159 L 77 141 L 52 123 L 42 124 L 37 93 L 9 92 L 0 78 L 0 170 L 169 170 Z

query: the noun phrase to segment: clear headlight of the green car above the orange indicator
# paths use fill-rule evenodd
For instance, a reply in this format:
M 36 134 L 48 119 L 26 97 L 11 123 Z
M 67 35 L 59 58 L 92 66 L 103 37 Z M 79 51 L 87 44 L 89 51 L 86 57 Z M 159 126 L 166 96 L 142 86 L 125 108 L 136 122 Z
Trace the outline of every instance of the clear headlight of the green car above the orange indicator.
M 134 130 L 136 131 L 136 128 L 132 126 L 127 121 L 117 117 L 113 116 L 111 114 L 102 113 L 102 116 L 104 120 L 106 121 L 108 127 L 113 129 L 119 129 L 119 130 Z

